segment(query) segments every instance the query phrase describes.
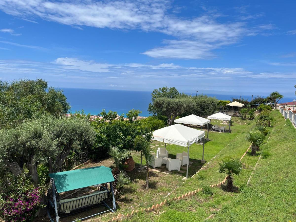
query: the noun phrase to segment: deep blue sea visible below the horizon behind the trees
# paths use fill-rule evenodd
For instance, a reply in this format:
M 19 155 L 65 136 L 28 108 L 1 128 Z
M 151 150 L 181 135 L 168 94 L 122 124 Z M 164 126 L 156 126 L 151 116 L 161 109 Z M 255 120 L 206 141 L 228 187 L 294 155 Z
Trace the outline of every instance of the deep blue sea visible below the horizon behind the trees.
M 149 116 L 148 104 L 151 102 L 151 92 L 124 91 L 107 89 L 74 89 L 63 88 L 67 101 L 71 105 L 71 113 L 84 110 L 86 114 L 98 115 L 102 110 L 117 112 L 119 115 L 131 110 L 140 110 L 140 116 Z M 189 94 L 189 93 L 188 93 Z M 190 94 L 189 94 L 190 95 Z M 195 95 L 195 94 L 194 94 Z M 220 100 L 231 100 L 240 95 L 207 94 Z M 251 101 L 251 96 L 242 95 Z M 291 102 L 295 98 L 285 97 L 281 102 Z

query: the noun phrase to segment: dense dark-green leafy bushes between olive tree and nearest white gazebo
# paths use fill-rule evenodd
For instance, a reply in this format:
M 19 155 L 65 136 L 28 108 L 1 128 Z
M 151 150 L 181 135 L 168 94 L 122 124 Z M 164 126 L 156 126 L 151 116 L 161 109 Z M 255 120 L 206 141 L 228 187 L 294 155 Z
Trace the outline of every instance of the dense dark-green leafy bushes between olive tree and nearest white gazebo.
M 115 119 L 114 117 L 117 114 L 114 113 L 102 112 L 102 120 L 96 119 L 91 122 L 91 126 L 96 131 L 95 143 L 91 150 L 93 158 L 106 157 L 110 145 L 119 149 L 131 149 L 134 139 L 138 135 L 145 135 L 147 139 L 151 139 L 151 127 L 154 123 L 149 125 L 145 124 L 145 121 L 149 122 L 149 120 L 127 121 L 123 120 L 123 118 Z

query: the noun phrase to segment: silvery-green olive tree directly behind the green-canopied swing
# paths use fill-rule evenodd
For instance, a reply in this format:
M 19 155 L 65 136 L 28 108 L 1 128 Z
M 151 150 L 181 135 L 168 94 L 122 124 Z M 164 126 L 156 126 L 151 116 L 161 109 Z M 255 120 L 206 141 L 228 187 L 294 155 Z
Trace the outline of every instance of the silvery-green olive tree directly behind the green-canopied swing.
M 0 130 L 0 162 L 15 175 L 24 172 L 38 184 L 37 165 L 49 165 L 49 173 L 62 170 L 71 149 L 83 149 L 93 142 L 95 132 L 88 121 L 80 118 L 25 120 L 11 129 Z

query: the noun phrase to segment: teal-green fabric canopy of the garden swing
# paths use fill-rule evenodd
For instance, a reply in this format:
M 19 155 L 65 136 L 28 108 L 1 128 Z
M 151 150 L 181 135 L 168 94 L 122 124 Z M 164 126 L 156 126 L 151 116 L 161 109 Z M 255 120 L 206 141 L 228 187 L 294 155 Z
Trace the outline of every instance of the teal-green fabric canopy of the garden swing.
M 50 173 L 49 176 L 54 179 L 58 193 L 114 181 L 111 168 L 105 166 Z

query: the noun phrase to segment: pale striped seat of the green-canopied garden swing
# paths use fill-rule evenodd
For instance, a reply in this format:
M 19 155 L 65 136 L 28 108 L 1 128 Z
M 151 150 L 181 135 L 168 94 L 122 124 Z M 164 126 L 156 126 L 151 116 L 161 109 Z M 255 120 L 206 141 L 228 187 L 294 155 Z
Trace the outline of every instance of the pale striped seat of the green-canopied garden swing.
M 72 210 L 87 207 L 94 204 L 99 204 L 100 202 L 107 200 L 108 192 L 96 191 L 92 194 L 88 194 L 82 197 L 76 197 L 71 199 L 60 200 L 58 202 L 60 213 L 70 213 Z M 66 212 L 67 211 L 67 212 Z

